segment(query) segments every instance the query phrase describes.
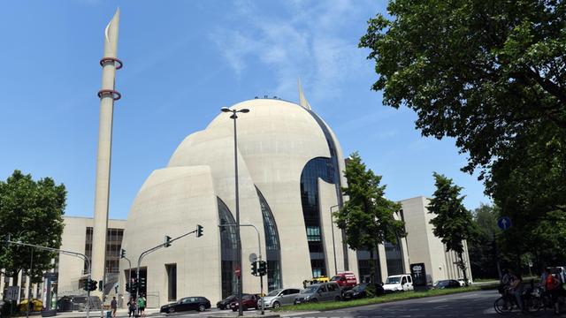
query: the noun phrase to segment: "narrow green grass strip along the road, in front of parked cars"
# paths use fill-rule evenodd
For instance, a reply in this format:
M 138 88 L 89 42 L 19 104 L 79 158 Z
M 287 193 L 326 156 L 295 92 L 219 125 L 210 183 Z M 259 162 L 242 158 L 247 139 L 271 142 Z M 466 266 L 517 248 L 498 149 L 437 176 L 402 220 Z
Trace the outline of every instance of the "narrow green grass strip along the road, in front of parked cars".
M 488 284 L 488 285 L 481 285 L 481 286 L 468 286 L 468 287 L 461 287 L 461 288 L 452 288 L 452 289 L 441 289 L 441 290 L 430 290 L 425 292 L 395 292 L 386 294 L 383 296 L 375 297 L 375 298 L 366 298 L 366 299 L 354 299 L 349 301 L 330 301 L 330 302 L 320 302 L 320 303 L 306 303 L 294 306 L 287 306 L 287 307 L 279 307 L 278 309 L 274 309 L 273 311 L 325 311 L 325 310 L 335 310 L 341 308 L 348 308 L 348 307 L 358 307 L 358 306 L 366 306 L 366 305 L 373 305 L 373 304 L 382 304 L 392 301 L 399 301 L 405 299 L 419 299 L 424 297 L 433 297 L 433 296 L 441 296 L 441 295 L 448 295 L 460 292 L 476 292 L 476 291 L 485 291 L 485 290 L 492 290 L 496 289 L 498 284 Z

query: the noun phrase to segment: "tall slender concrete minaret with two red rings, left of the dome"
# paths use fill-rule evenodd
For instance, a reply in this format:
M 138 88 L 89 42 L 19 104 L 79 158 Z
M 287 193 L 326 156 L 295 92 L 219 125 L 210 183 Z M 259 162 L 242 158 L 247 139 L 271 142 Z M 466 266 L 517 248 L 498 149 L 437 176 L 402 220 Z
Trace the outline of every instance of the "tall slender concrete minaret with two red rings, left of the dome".
M 100 97 L 100 124 L 98 126 L 98 154 L 96 157 L 95 223 L 92 238 L 92 278 L 105 281 L 106 231 L 108 229 L 108 199 L 110 196 L 110 163 L 112 148 L 112 117 L 114 101 L 120 94 L 114 89 L 116 70 L 122 67 L 118 55 L 118 27 L 120 10 L 104 30 L 104 56 Z

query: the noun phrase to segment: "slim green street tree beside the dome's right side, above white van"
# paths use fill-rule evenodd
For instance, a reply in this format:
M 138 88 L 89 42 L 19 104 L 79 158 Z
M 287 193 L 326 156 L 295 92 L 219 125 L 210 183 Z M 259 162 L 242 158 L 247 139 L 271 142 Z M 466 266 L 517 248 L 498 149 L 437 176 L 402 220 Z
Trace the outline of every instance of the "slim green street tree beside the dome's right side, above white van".
M 348 187 L 342 191 L 349 200 L 340 211 L 333 213 L 334 220 L 346 231 L 350 248 L 370 252 L 371 284 L 375 284 L 374 251 L 380 244 L 396 242 L 406 235 L 403 222 L 394 218 L 401 204 L 386 199 L 386 186 L 380 186 L 381 176 L 367 170 L 358 153 L 350 155 L 344 174 Z

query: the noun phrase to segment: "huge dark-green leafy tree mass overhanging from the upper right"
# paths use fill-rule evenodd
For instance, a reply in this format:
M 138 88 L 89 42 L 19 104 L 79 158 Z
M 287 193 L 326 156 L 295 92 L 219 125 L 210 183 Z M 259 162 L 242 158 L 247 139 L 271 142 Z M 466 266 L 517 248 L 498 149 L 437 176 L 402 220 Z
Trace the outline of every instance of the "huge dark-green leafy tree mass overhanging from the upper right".
M 417 112 L 424 136 L 454 137 L 513 226 L 503 258 L 566 261 L 566 2 L 391 0 L 359 46 L 384 104 Z

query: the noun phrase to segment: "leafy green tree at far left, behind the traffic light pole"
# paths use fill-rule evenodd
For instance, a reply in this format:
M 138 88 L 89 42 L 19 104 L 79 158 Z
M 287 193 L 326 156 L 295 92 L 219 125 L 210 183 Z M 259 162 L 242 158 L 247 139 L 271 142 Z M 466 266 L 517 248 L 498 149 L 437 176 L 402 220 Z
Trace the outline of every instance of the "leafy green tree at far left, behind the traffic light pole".
M 0 181 L 0 233 L 39 246 L 59 248 L 63 234 L 66 190 L 51 178 L 34 181 L 30 174 L 14 170 Z M 0 269 L 18 285 L 18 274 L 31 274 L 32 282 L 42 281 L 42 273 L 52 268 L 54 253 L 34 249 L 33 273 L 30 273 L 31 247 L 0 244 Z

